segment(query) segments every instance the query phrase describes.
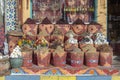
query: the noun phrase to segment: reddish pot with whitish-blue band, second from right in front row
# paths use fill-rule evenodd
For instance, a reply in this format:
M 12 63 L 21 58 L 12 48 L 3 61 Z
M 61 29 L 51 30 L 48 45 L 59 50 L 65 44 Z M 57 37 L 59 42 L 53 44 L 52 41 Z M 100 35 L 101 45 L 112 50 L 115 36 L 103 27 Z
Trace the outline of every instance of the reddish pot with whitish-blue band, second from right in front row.
M 88 67 L 97 67 L 99 60 L 98 53 L 85 53 L 85 63 Z

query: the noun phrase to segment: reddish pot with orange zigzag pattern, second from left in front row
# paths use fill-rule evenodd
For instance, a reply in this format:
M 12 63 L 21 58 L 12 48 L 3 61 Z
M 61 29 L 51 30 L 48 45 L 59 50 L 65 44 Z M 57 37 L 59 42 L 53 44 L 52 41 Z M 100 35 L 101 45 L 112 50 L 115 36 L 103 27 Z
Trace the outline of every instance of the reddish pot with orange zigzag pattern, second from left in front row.
M 48 67 L 50 65 L 51 53 L 48 54 L 40 53 L 39 51 L 34 52 L 37 55 L 37 64 L 40 67 Z

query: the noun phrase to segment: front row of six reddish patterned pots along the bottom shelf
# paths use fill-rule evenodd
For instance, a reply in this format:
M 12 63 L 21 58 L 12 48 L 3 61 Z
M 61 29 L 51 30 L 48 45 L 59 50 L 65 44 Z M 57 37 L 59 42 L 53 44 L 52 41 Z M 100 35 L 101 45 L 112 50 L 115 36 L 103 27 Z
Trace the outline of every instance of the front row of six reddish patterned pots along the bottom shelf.
M 52 64 L 55 67 L 64 67 L 66 64 L 72 67 L 82 67 L 85 63 L 88 67 L 97 67 L 98 64 L 101 66 L 110 67 L 112 64 L 112 53 L 85 53 L 81 55 L 75 55 L 72 53 L 65 53 L 62 56 L 52 53 L 47 54 L 44 58 L 40 54 L 33 51 L 23 52 L 23 67 L 30 67 L 32 64 L 37 64 L 41 67 L 48 67 Z M 33 56 L 33 57 L 32 57 Z

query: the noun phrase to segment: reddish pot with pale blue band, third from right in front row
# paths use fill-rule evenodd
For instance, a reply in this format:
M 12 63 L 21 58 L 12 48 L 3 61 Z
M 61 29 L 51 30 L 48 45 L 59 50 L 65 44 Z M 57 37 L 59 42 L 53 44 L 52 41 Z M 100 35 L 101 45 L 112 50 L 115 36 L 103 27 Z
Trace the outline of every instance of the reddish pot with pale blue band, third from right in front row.
M 71 66 L 82 67 L 84 61 L 84 54 L 74 54 L 71 53 Z

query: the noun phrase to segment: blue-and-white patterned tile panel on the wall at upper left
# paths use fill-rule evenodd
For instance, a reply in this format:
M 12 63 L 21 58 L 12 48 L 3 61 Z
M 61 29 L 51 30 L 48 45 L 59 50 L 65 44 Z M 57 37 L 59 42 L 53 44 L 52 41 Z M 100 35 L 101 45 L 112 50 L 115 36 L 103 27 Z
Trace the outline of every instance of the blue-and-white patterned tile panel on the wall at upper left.
M 16 26 L 16 0 L 6 0 L 5 1 L 5 25 L 7 31 L 15 30 Z

